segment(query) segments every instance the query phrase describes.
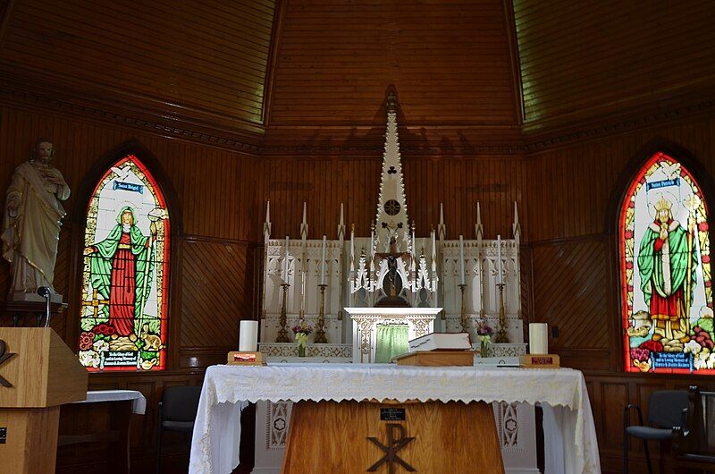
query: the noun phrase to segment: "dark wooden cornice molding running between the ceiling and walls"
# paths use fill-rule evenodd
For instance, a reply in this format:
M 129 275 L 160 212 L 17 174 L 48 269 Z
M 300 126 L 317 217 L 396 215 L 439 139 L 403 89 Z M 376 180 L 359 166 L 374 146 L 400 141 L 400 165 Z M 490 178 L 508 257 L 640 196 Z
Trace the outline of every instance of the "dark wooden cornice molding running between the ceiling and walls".
M 266 82 L 266 87 L 272 87 Z M 713 114 L 715 98 L 702 100 L 699 97 L 679 97 L 677 103 L 669 102 L 670 107 L 652 104 L 647 109 L 624 111 L 618 114 L 602 116 L 598 120 L 587 123 L 576 123 L 549 130 L 534 130 L 532 125 L 521 127 L 511 126 L 479 126 L 474 123 L 416 123 L 402 124 L 401 133 L 408 136 L 402 137 L 401 151 L 413 155 L 446 155 L 448 157 L 474 156 L 474 155 L 526 155 L 547 149 L 561 148 L 585 140 L 598 140 L 604 137 L 640 130 L 660 123 L 673 123 L 684 121 L 693 116 Z M 301 127 L 273 126 L 266 129 L 263 125 L 241 123 L 229 117 L 211 114 L 192 115 L 191 111 L 184 110 L 185 114 L 166 114 L 155 105 L 146 103 L 142 97 L 137 98 L 136 104 L 126 100 L 116 100 L 113 104 L 107 103 L 107 97 L 91 97 L 86 93 L 80 94 L 69 87 L 53 83 L 49 85 L 45 80 L 37 78 L 37 73 L 25 71 L 18 72 L 17 67 L 0 63 L 0 102 L 13 106 L 51 109 L 58 112 L 82 116 L 91 120 L 116 123 L 142 131 L 150 131 L 167 138 L 189 140 L 203 143 L 213 147 L 230 149 L 256 156 L 311 156 L 344 154 L 346 152 L 361 155 L 374 154 L 383 146 L 383 126 L 374 124 L 361 125 L 332 125 Z M 122 104 L 122 106 L 117 106 Z M 685 105 L 684 105 L 685 104 Z M 169 105 L 166 107 L 171 108 Z M 270 110 L 265 110 L 266 119 L 270 119 Z M 250 131 L 241 130 L 248 127 Z M 379 129 L 379 131 L 377 130 Z M 315 139 L 315 131 L 320 140 Z M 347 132 L 346 132 L 347 131 Z M 449 137 L 444 140 L 418 140 L 416 133 L 428 131 L 433 135 Z M 267 136 L 266 136 L 267 133 Z M 355 134 L 361 140 L 355 140 Z M 467 140 L 451 140 L 454 137 L 462 138 L 464 133 L 469 136 Z M 353 140 L 348 140 L 352 134 Z M 304 138 L 310 136 L 313 140 L 306 142 Z M 363 140 L 369 139 L 369 140 Z

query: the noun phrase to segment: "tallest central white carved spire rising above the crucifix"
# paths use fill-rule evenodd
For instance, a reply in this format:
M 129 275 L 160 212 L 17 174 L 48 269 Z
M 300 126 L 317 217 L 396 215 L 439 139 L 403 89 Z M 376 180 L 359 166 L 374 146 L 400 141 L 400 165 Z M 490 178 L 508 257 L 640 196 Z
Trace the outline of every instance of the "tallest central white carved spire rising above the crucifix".
M 408 250 L 408 208 L 405 184 L 402 180 L 400 141 L 397 131 L 397 97 L 387 97 L 387 131 L 383 153 L 383 175 L 375 216 L 375 233 L 378 251 L 388 251 L 393 237 L 400 251 Z

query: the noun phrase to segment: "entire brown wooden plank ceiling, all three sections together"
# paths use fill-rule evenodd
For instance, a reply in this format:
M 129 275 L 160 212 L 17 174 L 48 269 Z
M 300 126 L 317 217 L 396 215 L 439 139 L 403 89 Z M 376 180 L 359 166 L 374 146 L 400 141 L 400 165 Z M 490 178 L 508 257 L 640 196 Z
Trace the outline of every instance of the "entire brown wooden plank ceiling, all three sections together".
M 0 88 L 257 148 L 379 140 L 392 88 L 406 140 L 468 143 L 711 97 L 715 82 L 709 0 L 0 0 L 0 15 Z

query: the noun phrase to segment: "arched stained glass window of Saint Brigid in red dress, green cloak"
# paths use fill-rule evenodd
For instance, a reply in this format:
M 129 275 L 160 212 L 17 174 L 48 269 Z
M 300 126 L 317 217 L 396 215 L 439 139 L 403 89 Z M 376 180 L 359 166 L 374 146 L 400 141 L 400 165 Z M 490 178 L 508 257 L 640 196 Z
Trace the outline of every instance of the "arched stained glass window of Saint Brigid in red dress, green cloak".
M 166 367 L 169 214 L 133 155 L 112 165 L 89 200 L 80 361 L 90 371 Z

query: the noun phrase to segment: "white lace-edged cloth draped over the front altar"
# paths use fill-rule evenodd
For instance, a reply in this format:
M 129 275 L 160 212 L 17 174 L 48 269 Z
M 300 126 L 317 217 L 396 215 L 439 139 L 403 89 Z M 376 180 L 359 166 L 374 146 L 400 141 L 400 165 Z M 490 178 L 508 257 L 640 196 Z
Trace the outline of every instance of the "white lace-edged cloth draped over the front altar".
M 240 410 L 248 402 L 439 400 L 543 403 L 558 412 L 554 439 L 567 474 L 601 472 L 584 376 L 571 368 L 391 364 L 275 364 L 206 369 L 191 440 L 190 473 L 228 474 L 239 464 Z M 557 456 L 557 457 L 559 457 Z

